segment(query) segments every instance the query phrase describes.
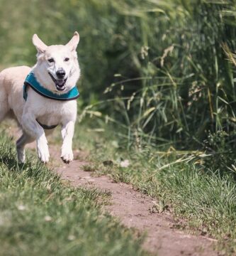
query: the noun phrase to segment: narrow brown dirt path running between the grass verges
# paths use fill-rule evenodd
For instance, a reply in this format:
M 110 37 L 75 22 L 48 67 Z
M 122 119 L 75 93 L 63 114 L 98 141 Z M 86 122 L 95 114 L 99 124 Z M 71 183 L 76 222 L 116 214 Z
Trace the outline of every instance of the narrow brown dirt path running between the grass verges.
M 53 155 L 58 159 L 58 152 Z M 94 177 L 88 171 L 83 171 L 84 161 L 74 160 L 69 165 L 57 167 L 55 171 L 63 179 L 71 181 L 73 186 L 93 186 L 111 193 L 111 205 L 105 210 L 129 228 L 135 228 L 147 233 L 145 250 L 157 253 L 159 256 L 177 255 L 218 255 L 213 250 L 214 240 L 201 235 L 188 235 L 174 229 L 174 220 L 165 213 L 152 213 L 154 205 L 149 196 L 135 191 L 126 183 L 114 183 L 107 176 Z

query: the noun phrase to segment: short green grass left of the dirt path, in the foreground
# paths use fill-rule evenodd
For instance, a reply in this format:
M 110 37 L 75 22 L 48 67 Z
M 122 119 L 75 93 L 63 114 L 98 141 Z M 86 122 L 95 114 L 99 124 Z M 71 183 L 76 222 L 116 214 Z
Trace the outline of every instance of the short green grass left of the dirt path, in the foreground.
M 65 185 L 0 142 L 0 255 L 146 255 L 142 238 L 101 210 L 108 195 Z

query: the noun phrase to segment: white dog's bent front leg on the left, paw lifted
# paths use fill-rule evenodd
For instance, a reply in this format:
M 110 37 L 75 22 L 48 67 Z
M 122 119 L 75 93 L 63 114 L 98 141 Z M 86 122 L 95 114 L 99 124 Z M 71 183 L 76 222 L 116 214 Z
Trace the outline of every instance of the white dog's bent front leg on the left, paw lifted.
M 23 130 L 36 139 L 37 151 L 40 161 L 47 163 L 49 161 L 49 150 L 47 146 L 47 139 L 43 128 L 36 121 L 36 117 L 32 113 L 23 114 L 22 117 Z

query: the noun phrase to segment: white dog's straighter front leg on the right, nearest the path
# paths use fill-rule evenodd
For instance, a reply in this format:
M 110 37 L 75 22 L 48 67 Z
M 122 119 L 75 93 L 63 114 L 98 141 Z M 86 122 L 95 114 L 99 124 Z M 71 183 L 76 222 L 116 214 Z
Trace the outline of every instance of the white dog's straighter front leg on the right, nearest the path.
M 74 122 L 69 121 L 62 124 L 62 155 L 61 159 L 64 163 L 69 164 L 74 159 L 72 151 L 72 139 L 74 135 Z

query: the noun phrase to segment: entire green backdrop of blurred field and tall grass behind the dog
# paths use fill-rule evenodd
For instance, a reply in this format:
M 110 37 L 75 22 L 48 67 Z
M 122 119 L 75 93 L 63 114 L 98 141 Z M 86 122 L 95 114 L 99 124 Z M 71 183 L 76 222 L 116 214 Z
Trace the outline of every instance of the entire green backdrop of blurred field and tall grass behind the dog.
M 35 63 L 33 33 L 50 45 L 79 31 L 81 117 L 115 124 L 128 147 L 235 148 L 236 1 L 0 4 L 1 68 Z

